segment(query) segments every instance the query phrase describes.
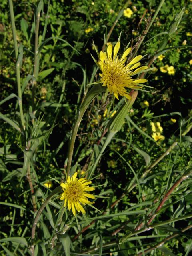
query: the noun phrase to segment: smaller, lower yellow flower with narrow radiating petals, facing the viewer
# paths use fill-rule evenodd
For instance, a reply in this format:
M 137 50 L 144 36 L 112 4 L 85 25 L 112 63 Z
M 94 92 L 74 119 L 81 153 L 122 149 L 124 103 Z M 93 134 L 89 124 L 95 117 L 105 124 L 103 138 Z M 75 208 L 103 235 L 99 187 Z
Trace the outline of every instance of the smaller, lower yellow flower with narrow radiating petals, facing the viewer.
M 85 209 L 82 205 L 92 204 L 88 201 L 88 198 L 95 199 L 94 195 L 88 194 L 87 191 L 93 191 L 95 188 L 90 187 L 92 181 L 86 180 L 86 178 L 77 178 L 77 172 L 73 174 L 72 177 L 68 176 L 65 183 L 61 183 L 63 193 L 61 194 L 60 200 L 65 200 L 64 207 L 66 204 L 68 209 L 76 215 L 76 210 L 78 212 L 85 213 Z

